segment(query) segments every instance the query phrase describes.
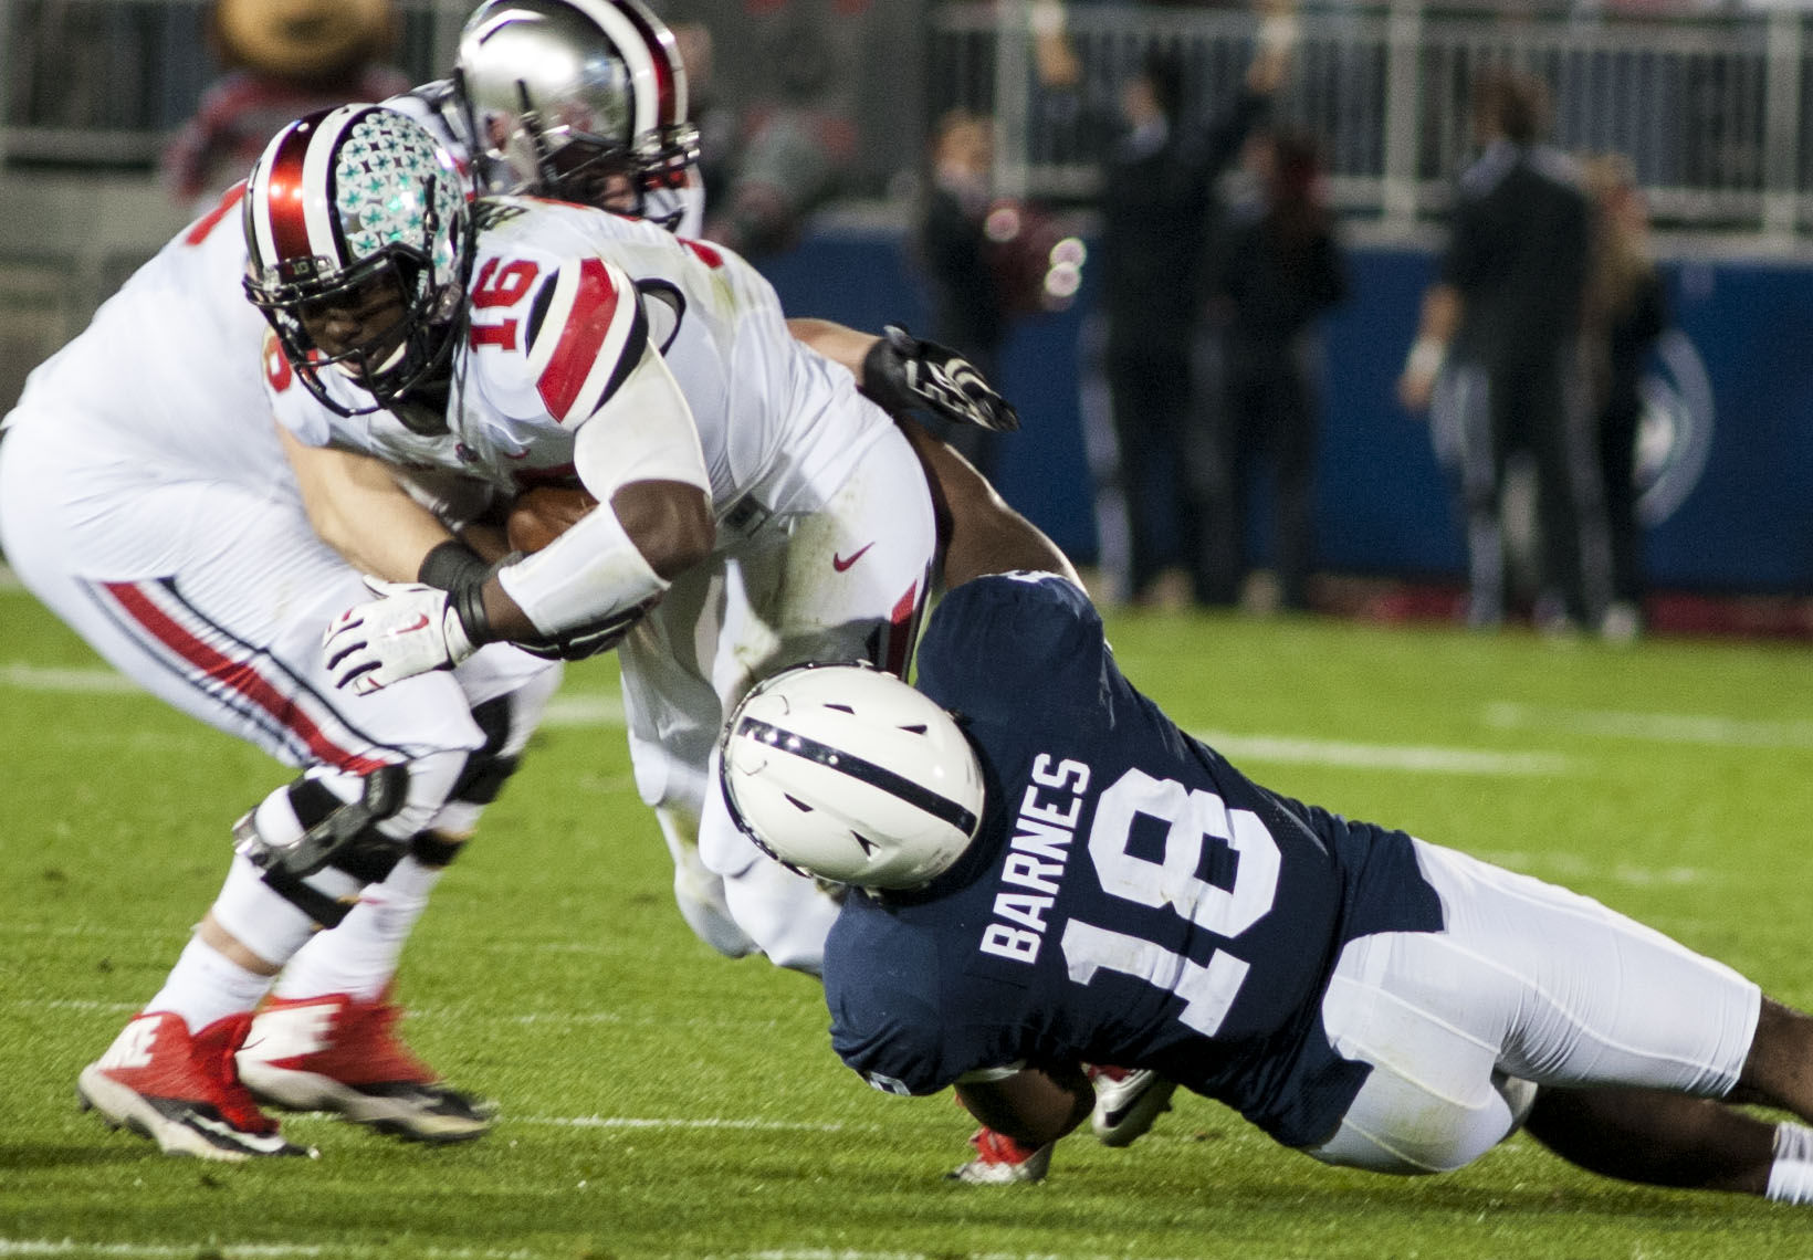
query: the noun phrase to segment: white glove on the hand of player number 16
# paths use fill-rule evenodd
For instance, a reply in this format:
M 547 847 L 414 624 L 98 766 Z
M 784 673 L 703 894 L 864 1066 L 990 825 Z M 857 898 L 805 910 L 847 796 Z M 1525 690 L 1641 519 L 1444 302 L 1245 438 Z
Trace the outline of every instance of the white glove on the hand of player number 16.
M 346 609 L 321 636 L 335 687 L 364 696 L 430 669 L 451 669 L 477 651 L 446 591 L 373 577 L 364 584 L 381 598 Z

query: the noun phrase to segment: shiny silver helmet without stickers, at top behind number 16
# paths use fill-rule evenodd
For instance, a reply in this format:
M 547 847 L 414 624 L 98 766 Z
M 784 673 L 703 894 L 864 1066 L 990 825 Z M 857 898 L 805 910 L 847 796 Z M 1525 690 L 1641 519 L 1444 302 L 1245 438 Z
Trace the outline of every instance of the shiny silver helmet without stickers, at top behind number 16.
M 698 161 L 685 67 L 642 0 L 486 0 L 453 78 L 493 190 L 642 214 Z

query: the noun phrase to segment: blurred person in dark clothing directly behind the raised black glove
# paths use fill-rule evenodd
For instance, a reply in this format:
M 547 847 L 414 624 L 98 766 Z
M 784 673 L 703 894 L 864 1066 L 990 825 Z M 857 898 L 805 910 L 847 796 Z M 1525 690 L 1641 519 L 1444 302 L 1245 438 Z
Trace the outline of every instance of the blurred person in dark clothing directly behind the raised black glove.
M 916 261 L 932 317 L 926 335 L 961 352 L 984 377 L 999 383 L 1008 315 L 990 265 L 986 223 L 992 201 L 990 121 L 954 109 L 939 120 L 932 138 L 932 179 L 919 216 Z M 995 475 L 999 433 L 936 421 L 932 428 L 984 477 Z

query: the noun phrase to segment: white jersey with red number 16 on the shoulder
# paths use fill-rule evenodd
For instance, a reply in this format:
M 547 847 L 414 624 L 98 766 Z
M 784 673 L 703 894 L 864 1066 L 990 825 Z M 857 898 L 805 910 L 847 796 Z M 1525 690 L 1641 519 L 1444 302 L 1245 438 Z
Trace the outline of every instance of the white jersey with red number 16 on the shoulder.
M 573 433 L 595 415 L 627 442 L 647 426 L 694 424 L 720 520 L 752 526 L 823 508 L 892 431 L 847 370 L 792 339 L 774 288 L 736 254 L 562 201 L 486 198 L 475 210 L 482 228 L 448 431 L 412 431 L 390 412 L 335 415 L 270 337 L 272 401 L 303 442 L 464 471 L 515 493 L 571 484 Z M 613 412 L 645 354 L 664 355 L 687 408 Z M 321 379 L 341 406 L 372 404 L 352 379 Z

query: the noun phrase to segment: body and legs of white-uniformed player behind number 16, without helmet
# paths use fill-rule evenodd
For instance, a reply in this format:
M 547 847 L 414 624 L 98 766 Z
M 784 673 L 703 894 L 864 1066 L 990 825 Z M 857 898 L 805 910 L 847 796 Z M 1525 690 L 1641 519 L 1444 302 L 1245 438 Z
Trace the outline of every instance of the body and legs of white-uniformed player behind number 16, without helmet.
M 611 53 L 633 67 L 615 82 L 658 76 L 651 38 Z M 444 91 L 399 105 L 462 134 Z M 479 479 L 279 441 L 241 288 L 241 194 L 141 268 L 5 421 L 0 542 L 27 587 L 160 698 L 303 771 L 241 819 L 214 908 L 80 1091 L 207 1158 L 301 1153 L 254 1090 L 412 1139 L 475 1137 L 488 1108 L 397 1037 L 390 984 L 558 674 L 499 649 L 388 700 L 330 685 L 319 625 L 364 591 L 359 573 L 421 577 L 455 533 L 482 555 L 504 544 L 475 524 Z

